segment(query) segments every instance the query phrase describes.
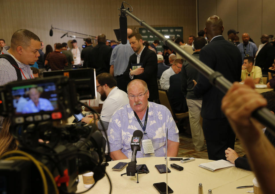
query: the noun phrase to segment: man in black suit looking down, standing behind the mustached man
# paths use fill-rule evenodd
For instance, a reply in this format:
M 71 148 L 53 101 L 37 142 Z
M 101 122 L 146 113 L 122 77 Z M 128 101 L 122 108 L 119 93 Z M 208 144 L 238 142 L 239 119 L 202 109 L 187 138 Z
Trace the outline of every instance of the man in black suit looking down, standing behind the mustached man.
M 130 56 L 128 66 L 123 76 L 127 78 L 128 81 L 130 81 L 130 79 L 141 79 L 145 81 L 150 92 L 148 100 L 158 103 L 157 55 L 154 51 L 142 44 L 142 36 L 139 33 L 131 34 L 129 36 L 129 43 L 135 53 Z M 132 70 L 133 66 L 139 68 Z

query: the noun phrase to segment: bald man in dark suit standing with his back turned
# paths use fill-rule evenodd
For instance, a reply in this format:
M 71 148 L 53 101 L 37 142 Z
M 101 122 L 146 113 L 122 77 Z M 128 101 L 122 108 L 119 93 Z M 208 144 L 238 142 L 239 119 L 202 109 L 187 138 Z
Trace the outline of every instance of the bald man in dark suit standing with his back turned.
M 205 34 L 210 43 L 200 51 L 200 61 L 214 71 L 218 71 L 231 82 L 241 79 L 241 53 L 239 49 L 222 36 L 223 21 L 218 16 L 211 16 L 205 23 Z M 196 84 L 196 82 L 194 81 Z M 224 94 L 203 75 L 199 76 L 194 88 L 196 96 L 203 96 L 201 116 L 203 117 L 203 132 L 210 160 L 226 159 L 224 150 L 234 149 L 235 134 L 227 118 L 221 111 L 221 99 Z

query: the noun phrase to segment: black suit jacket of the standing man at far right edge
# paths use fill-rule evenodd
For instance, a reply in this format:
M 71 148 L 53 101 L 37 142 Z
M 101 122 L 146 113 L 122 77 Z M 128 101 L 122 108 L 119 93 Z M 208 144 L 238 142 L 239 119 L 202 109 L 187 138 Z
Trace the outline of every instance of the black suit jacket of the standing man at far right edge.
M 260 68 L 269 68 L 272 66 L 274 61 L 275 52 L 274 47 L 268 42 L 264 47 L 259 51 L 255 65 L 259 66 Z

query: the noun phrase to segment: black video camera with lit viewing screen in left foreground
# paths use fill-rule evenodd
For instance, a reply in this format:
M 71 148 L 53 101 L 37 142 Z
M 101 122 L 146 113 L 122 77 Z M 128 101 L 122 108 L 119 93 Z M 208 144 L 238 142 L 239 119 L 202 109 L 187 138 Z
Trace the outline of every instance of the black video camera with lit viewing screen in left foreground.
M 95 182 L 104 177 L 106 140 L 101 132 L 95 125 L 60 125 L 79 112 L 75 81 L 68 77 L 0 87 L 0 114 L 11 119 L 10 132 L 20 150 L 6 152 L 0 159 L 0 193 L 45 193 L 45 189 L 56 193 L 57 188 L 59 193 L 74 193 L 78 174 L 93 171 Z M 35 159 L 14 159 L 24 158 L 21 151 Z M 46 178 L 36 163 L 49 169 Z

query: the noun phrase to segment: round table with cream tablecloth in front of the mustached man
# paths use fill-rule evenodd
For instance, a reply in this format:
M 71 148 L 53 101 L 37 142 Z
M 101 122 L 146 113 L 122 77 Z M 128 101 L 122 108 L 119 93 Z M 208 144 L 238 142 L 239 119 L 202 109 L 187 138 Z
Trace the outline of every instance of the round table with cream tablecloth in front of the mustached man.
M 150 193 L 158 194 L 159 192 L 153 186 L 153 183 L 166 182 L 166 174 L 160 174 L 155 165 L 166 164 L 164 157 L 137 158 L 137 164 L 146 164 L 150 173 L 139 174 L 137 183 L 136 177 L 127 175 L 126 167 L 122 171 L 113 171 L 111 168 L 118 162 L 130 162 L 130 159 L 117 160 L 108 162 L 106 172 L 109 175 L 112 183 L 112 193 Z M 205 160 L 196 158 L 194 161 L 181 163 L 180 161 L 170 161 L 168 157 L 168 168 L 171 173 L 168 173 L 168 185 L 174 193 L 197 193 L 199 183 L 203 185 L 203 193 L 207 193 L 211 189 L 214 194 L 218 193 L 246 193 L 253 188 L 236 189 L 239 186 L 253 185 L 252 180 L 255 177 L 251 171 L 246 171 L 235 166 L 220 171 L 212 172 L 199 167 L 201 163 L 211 162 L 213 160 Z M 183 171 L 178 171 L 170 167 L 170 164 L 175 163 L 184 167 Z M 84 191 L 86 188 L 83 185 L 82 175 L 79 175 L 80 183 L 77 186 L 77 192 Z M 105 175 L 99 180 L 96 185 L 87 193 L 109 193 L 110 184 Z

